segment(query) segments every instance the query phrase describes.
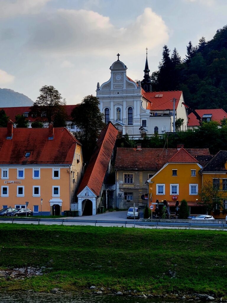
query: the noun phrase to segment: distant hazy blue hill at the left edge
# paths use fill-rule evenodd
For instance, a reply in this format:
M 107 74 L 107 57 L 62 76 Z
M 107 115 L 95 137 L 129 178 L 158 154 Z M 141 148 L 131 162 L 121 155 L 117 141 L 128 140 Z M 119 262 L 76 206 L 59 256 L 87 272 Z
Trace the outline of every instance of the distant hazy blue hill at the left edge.
M 0 88 L 0 108 L 14 106 L 30 106 L 33 102 L 27 96 L 8 88 Z

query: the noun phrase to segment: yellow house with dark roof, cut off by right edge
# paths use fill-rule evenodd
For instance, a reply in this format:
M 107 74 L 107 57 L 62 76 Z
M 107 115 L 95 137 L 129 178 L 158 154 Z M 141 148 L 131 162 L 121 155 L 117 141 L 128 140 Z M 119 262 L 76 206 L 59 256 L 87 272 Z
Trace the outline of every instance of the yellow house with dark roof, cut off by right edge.
M 219 151 L 200 171 L 205 191 L 209 191 L 210 203 L 217 198 L 210 215 L 225 218 L 227 214 L 227 151 Z M 207 188 L 207 189 L 206 189 Z

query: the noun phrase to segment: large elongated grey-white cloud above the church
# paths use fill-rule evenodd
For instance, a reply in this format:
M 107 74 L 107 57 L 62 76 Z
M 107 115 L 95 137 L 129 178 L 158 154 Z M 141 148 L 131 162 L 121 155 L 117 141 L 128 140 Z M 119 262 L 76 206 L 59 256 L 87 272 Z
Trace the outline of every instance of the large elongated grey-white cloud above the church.
M 43 15 L 31 31 L 28 47 L 52 55 L 135 54 L 146 46 L 152 50 L 167 42 L 169 31 L 161 16 L 145 8 L 127 28 L 117 28 L 109 17 L 88 10 L 59 9 Z

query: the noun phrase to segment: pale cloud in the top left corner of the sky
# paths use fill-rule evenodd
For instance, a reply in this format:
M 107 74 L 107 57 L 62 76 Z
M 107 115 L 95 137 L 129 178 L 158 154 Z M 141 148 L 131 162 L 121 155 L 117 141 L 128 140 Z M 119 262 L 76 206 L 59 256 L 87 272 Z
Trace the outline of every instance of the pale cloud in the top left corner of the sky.
M 0 18 L 37 14 L 51 0 L 0 0 Z

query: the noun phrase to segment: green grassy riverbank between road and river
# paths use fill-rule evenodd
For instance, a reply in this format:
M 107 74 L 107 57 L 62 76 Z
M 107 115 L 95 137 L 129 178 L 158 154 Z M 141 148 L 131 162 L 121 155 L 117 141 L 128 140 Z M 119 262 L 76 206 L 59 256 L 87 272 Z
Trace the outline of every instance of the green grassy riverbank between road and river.
M 2 278 L 0 289 L 78 291 L 95 285 L 227 295 L 227 233 L 222 231 L 1 224 L 0 249 L 0 269 L 53 268 L 22 281 Z

